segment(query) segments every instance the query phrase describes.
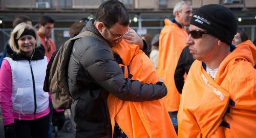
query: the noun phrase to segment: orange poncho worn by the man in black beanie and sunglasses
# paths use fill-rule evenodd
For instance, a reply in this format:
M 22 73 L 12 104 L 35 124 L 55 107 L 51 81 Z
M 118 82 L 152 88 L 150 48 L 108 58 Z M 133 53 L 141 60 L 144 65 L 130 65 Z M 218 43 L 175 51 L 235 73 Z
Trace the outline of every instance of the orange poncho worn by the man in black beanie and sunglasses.
M 178 137 L 255 137 L 255 63 L 250 40 L 222 61 L 215 80 L 196 60 L 182 90 Z

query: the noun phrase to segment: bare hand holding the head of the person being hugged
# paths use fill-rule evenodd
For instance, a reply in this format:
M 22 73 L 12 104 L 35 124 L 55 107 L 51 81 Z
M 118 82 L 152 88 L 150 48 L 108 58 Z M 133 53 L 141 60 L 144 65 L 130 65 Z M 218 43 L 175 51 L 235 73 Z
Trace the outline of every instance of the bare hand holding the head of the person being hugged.
M 127 34 L 123 35 L 124 41 L 127 43 L 133 43 L 140 46 L 140 49 L 143 49 L 143 40 L 142 38 L 135 32 L 135 30 L 129 28 Z

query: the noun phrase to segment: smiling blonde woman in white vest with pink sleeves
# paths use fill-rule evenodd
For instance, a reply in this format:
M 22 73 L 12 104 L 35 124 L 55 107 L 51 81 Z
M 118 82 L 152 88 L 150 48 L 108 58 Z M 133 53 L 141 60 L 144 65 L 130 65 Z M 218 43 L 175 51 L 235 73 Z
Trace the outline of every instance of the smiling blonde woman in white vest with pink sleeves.
M 36 30 L 26 23 L 11 33 L 0 70 L 0 106 L 6 137 L 47 137 L 49 94 L 42 89 L 48 59 Z

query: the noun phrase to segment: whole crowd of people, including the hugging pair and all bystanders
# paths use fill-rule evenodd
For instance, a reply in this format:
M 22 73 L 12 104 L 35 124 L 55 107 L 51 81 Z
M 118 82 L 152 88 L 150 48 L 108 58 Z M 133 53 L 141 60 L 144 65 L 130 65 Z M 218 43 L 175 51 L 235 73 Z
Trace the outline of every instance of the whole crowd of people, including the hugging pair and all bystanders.
M 74 22 L 71 38 L 86 34 L 66 67 L 75 137 L 256 135 L 256 47 L 236 16 L 217 4 L 193 13 L 183 1 L 173 16 L 160 34 L 139 36 L 125 6 L 109 0 L 95 19 Z M 36 30 L 26 15 L 13 19 L 0 60 L 5 137 L 51 138 L 52 119 L 65 121 L 43 90 L 54 23 L 43 15 Z

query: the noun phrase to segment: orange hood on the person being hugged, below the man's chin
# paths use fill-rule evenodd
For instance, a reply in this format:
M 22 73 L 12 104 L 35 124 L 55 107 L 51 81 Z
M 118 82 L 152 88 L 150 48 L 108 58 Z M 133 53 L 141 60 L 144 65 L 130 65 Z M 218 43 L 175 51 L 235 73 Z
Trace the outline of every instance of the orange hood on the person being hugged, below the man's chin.
M 130 65 L 133 57 L 135 57 L 137 54 L 143 53 L 139 49 L 139 45 L 127 43 L 124 41 L 124 39 L 114 45 L 112 49 L 114 53 L 120 56 L 123 65 Z

